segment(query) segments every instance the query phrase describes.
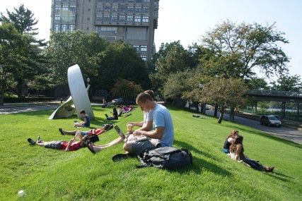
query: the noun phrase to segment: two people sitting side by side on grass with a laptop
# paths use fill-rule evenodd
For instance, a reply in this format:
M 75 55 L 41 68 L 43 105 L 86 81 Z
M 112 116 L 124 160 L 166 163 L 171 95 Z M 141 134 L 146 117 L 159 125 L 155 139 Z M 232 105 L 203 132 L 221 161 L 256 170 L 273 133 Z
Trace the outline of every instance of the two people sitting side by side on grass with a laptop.
M 112 140 L 106 145 L 88 145 L 88 149 L 95 153 L 106 147 L 124 142 L 124 150 L 130 154 L 141 154 L 144 150 L 153 150 L 156 147 L 172 147 L 174 140 L 174 130 L 172 118 L 168 109 L 154 100 L 154 93 L 151 90 L 140 93 L 137 96 L 137 104 L 144 112 L 144 121 L 129 122 L 127 136 Z M 132 126 L 141 128 L 132 131 Z M 154 128 L 152 130 L 152 128 Z M 146 137 L 140 140 L 141 137 Z

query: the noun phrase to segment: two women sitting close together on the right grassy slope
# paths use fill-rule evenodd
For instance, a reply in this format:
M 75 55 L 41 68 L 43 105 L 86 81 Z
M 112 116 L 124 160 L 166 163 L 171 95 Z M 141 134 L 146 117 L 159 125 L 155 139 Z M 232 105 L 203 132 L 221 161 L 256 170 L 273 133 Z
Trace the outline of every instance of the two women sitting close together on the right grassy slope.
M 226 141 L 224 142 L 222 152 L 229 154 L 231 159 L 248 164 L 248 166 L 252 167 L 252 169 L 272 172 L 274 167 L 263 166 L 258 161 L 249 159 L 245 154 L 243 154 L 243 136 L 238 135 L 238 133 L 238 130 L 233 130 L 230 135 L 228 135 Z

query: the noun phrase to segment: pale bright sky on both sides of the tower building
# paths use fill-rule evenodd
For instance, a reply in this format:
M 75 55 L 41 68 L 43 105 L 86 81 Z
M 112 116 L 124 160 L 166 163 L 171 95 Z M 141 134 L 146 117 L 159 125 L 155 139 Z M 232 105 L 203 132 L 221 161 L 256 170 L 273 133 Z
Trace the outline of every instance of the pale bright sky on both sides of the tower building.
M 0 12 L 24 4 L 39 21 L 40 39 L 50 38 L 51 0 L 0 0 Z M 302 1 L 301 0 L 160 0 L 155 44 L 180 40 L 183 47 L 200 43 L 202 35 L 224 20 L 233 23 L 272 25 L 284 32 L 289 44 L 280 44 L 291 61 L 291 75 L 302 76 Z M 260 75 L 262 76 L 262 75 Z

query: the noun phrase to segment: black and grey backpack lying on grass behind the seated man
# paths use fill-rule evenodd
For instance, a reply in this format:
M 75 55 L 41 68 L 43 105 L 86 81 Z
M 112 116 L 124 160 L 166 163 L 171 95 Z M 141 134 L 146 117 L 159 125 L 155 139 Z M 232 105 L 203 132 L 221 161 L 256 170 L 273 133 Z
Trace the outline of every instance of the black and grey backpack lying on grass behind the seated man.
M 186 149 L 160 147 L 139 154 L 141 164 L 137 168 L 155 166 L 159 169 L 184 169 L 192 165 L 192 154 Z

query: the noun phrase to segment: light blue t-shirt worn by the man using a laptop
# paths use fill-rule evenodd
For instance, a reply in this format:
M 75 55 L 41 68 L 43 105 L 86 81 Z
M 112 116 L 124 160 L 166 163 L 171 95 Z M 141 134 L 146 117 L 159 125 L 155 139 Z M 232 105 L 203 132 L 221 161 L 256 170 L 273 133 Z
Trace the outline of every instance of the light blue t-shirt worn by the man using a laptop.
M 153 128 L 164 127 L 163 137 L 159 140 L 161 146 L 172 147 L 174 140 L 174 129 L 170 112 L 165 106 L 156 104 L 153 109 Z

